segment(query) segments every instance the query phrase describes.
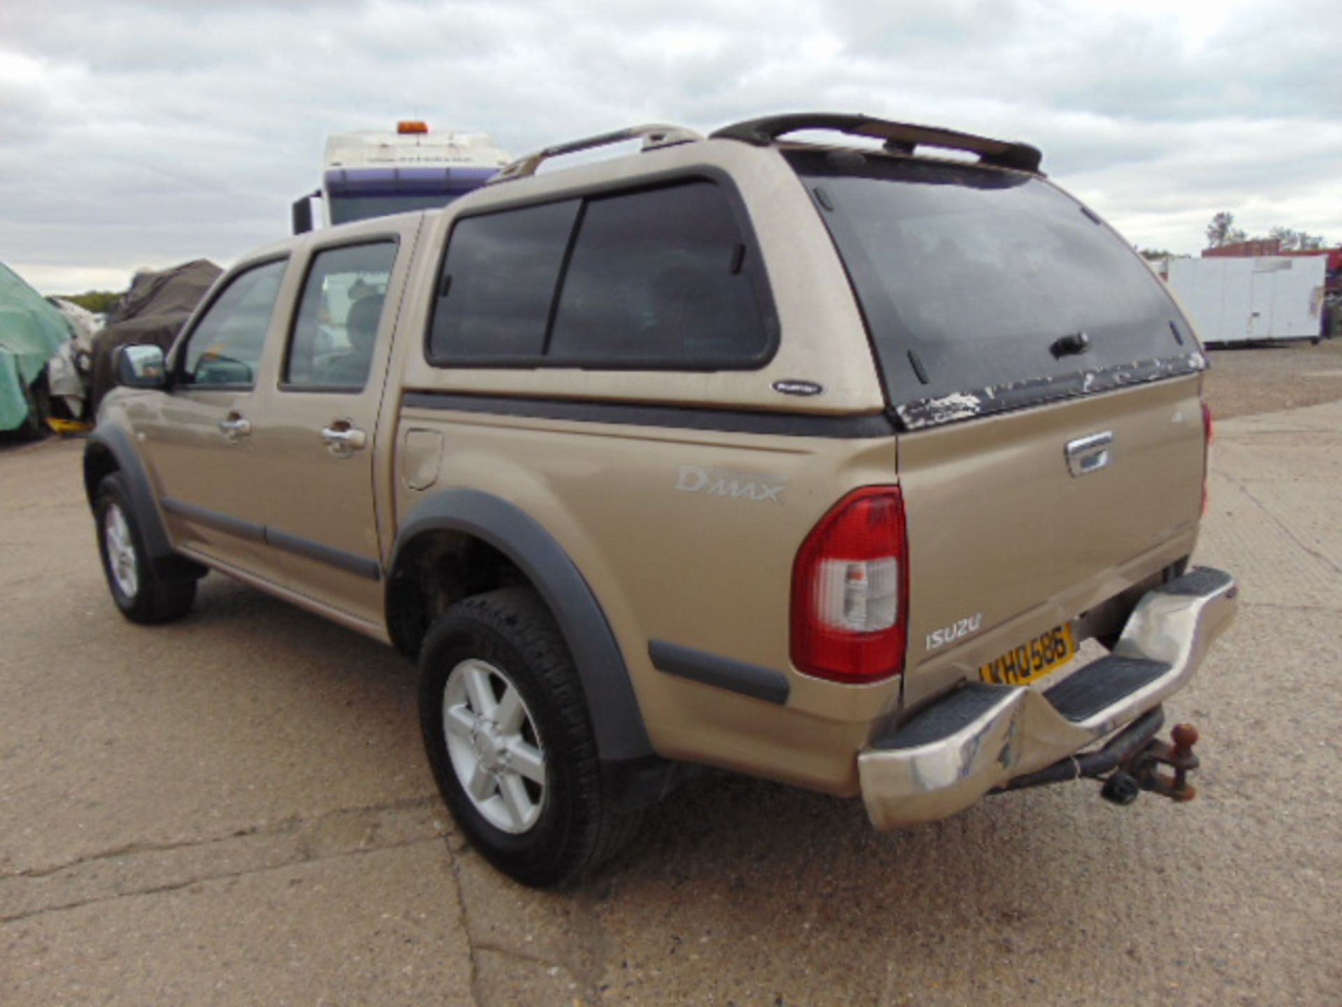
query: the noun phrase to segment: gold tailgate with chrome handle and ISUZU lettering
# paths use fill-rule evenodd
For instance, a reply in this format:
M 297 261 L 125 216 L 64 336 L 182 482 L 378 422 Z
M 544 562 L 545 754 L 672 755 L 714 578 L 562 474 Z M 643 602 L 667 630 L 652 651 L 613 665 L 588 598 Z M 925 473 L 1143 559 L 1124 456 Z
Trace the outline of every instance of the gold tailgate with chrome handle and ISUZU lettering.
M 1188 555 L 1200 384 L 1153 381 L 900 438 L 906 704 Z M 1107 459 L 1074 474 L 1067 446 L 1094 435 L 1111 438 Z

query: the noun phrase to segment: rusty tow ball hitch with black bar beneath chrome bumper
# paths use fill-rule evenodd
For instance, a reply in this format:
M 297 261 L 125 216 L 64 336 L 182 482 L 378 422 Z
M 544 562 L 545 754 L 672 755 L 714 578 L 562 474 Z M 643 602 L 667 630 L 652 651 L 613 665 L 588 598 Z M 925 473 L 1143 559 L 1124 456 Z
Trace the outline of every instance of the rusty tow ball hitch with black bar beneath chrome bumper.
M 1104 781 L 1100 796 L 1115 804 L 1131 804 L 1142 791 L 1151 791 L 1170 800 L 1193 800 L 1197 791 L 1189 784 L 1188 775 L 1197 768 L 1197 756 L 1193 755 L 1197 728 L 1177 724 L 1170 732 L 1170 741 L 1161 741 L 1155 734 L 1164 725 L 1165 713 L 1157 706 L 1129 724 L 1103 748 L 1017 776 L 993 792 L 1095 779 Z

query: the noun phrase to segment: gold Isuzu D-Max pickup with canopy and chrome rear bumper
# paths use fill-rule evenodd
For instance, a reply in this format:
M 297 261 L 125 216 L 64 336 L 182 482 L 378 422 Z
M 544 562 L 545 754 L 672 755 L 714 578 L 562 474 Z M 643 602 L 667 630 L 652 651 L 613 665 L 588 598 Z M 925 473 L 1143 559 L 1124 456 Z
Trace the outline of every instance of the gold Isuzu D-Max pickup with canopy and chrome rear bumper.
M 1206 361 L 1039 162 L 644 126 L 259 250 L 121 352 L 85 458 L 113 599 L 173 619 L 216 569 L 417 658 L 447 804 L 531 885 L 696 765 L 878 828 L 1078 776 L 1186 799 L 1162 702 L 1236 596 L 1188 569 Z

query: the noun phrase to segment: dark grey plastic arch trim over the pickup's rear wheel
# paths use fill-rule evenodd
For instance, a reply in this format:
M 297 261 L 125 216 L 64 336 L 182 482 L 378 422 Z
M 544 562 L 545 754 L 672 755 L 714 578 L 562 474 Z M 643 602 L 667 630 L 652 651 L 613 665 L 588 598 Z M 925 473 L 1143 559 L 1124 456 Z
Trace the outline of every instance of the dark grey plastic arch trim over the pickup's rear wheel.
M 615 632 L 586 579 L 554 537 L 502 497 L 470 489 L 442 490 L 420 501 L 401 524 L 388 580 L 400 572 L 407 548 L 433 532 L 463 532 L 488 542 L 539 591 L 573 654 L 601 760 L 632 763 L 654 756 Z M 395 622 L 388 612 L 388 624 Z

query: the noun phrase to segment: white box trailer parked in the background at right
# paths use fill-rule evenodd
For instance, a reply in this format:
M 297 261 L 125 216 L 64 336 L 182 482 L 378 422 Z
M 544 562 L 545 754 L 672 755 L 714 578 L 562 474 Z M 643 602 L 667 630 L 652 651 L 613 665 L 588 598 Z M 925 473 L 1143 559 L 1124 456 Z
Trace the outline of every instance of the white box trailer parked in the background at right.
M 1326 266 L 1326 255 L 1172 259 L 1169 285 L 1205 344 L 1318 342 Z

